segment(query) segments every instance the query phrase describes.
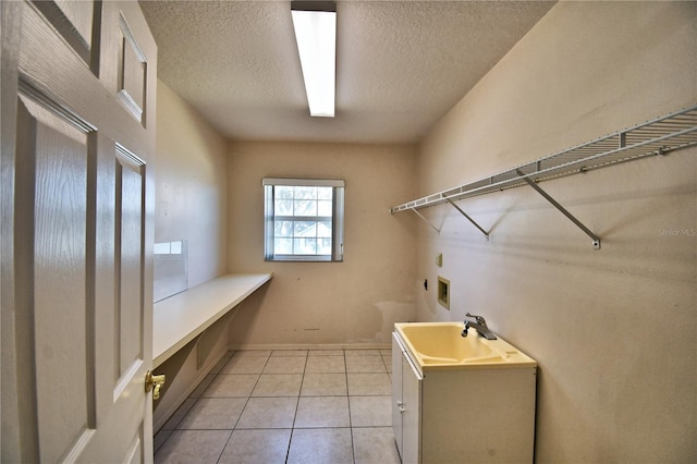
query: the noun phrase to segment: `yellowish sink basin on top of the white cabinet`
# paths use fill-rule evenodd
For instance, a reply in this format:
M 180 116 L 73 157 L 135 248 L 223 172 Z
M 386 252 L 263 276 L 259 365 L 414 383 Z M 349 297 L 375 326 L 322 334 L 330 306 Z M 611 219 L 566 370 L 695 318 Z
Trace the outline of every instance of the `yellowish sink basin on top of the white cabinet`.
M 395 332 L 421 369 L 535 366 L 537 363 L 500 338 L 487 340 L 463 322 L 395 323 Z

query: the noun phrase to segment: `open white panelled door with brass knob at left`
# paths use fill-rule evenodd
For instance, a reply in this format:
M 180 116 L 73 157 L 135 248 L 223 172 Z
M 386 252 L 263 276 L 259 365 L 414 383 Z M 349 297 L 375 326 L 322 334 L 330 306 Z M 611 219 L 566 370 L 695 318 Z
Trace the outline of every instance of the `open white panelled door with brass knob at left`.
M 156 47 L 137 2 L 2 2 L 2 462 L 150 462 Z

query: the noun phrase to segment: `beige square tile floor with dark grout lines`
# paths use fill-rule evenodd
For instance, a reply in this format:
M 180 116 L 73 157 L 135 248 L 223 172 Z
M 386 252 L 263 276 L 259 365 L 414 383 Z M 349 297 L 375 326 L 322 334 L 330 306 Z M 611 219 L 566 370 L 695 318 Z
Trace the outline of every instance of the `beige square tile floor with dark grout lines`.
M 400 463 L 390 350 L 230 352 L 155 437 L 156 463 Z

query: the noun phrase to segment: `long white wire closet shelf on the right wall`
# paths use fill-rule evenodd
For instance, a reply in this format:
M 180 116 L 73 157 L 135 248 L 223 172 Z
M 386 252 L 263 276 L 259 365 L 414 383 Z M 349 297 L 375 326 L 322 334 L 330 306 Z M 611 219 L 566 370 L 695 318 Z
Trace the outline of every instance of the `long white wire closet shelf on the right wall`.
M 649 156 L 663 156 L 693 145 L 697 145 L 697 106 L 617 131 L 489 178 L 394 206 L 390 208 L 390 212 L 416 212 L 416 209 L 444 203 L 454 206 L 454 200 L 531 185 Z

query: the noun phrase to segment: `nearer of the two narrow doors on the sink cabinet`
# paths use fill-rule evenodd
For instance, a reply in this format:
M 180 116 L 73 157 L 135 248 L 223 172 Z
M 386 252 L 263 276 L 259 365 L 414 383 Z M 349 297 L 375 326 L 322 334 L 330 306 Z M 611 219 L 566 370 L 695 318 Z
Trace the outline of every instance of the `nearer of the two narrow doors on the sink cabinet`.
M 421 451 L 421 376 L 402 353 L 402 463 L 419 463 Z

